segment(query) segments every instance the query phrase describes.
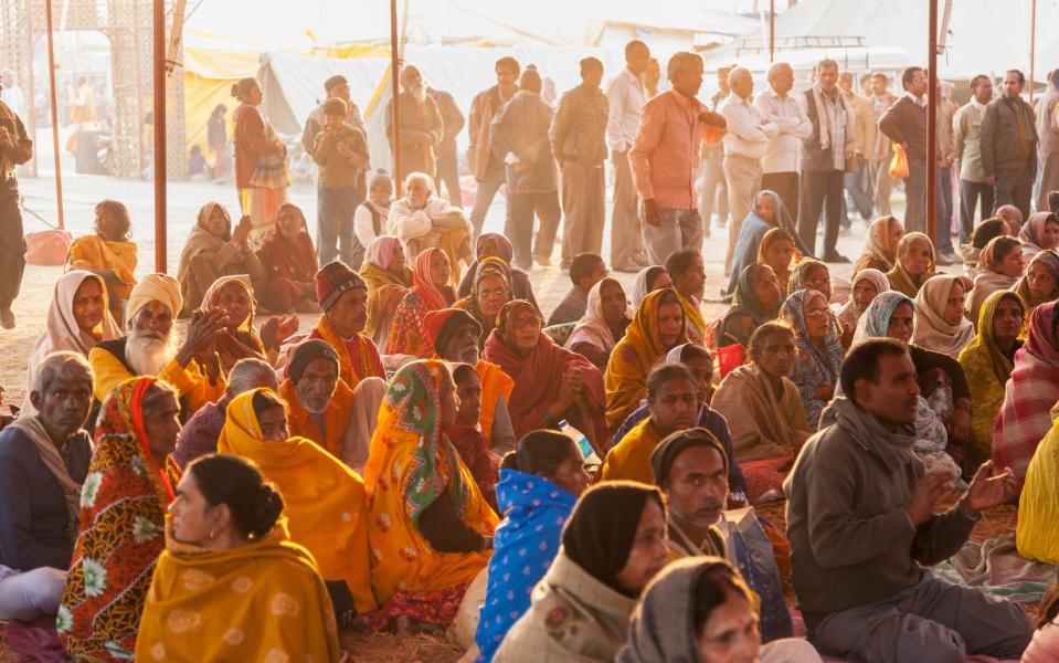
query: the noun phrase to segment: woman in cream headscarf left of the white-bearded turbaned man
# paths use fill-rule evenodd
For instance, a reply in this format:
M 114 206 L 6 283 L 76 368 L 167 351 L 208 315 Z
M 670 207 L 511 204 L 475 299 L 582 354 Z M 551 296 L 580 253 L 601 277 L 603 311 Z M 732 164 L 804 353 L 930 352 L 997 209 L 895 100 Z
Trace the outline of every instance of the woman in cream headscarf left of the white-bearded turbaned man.
M 36 339 L 25 367 L 25 400 L 22 414 L 35 414 L 30 394 L 36 369 L 52 352 L 72 351 L 88 357 L 88 350 L 104 340 L 121 336 L 121 329 L 110 315 L 107 288 L 103 277 L 84 270 L 66 272 L 59 277 L 47 305 L 44 330 Z

